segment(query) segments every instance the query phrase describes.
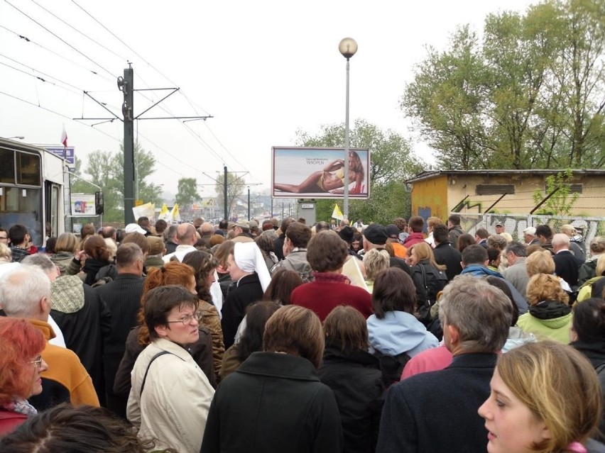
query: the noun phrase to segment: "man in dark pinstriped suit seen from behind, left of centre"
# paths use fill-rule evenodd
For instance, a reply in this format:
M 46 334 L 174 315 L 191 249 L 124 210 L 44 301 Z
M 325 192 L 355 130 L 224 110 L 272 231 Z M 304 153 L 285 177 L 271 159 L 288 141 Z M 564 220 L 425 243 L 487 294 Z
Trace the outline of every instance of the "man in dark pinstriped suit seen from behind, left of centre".
M 126 418 L 125 398 L 114 393 L 114 380 L 124 351 L 126 337 L 136 327 L 136 313 L 141 308 L 143 293 L 143 251 L 134 242 L 126 242 L 116 252 L 118 276 L 98 286 L 96 291 L 111 313 L 111 334 L 104 339 L 103 367 L 107 408 Z

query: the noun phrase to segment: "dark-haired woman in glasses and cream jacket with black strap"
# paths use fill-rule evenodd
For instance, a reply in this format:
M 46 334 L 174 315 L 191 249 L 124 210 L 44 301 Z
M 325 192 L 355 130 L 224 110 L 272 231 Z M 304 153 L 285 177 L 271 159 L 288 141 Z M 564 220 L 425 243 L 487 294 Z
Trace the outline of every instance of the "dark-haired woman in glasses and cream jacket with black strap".
M 154 288 L 143 314 L 151 344 L 132 370 L 126 415 L 139 437 L 180 453 L 200 451 L 214 388 L 185 345 L 200 337 L 197 296 L 182 286 Z

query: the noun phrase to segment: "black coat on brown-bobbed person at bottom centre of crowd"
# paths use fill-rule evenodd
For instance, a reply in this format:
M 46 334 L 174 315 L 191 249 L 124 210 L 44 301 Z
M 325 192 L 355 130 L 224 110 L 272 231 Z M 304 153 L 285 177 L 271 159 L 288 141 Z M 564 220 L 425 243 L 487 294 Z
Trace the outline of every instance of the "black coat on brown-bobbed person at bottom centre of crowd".
M 214 393 L 201 453 L 340 453 L 334 393 L 307 359 L 253 352 Z

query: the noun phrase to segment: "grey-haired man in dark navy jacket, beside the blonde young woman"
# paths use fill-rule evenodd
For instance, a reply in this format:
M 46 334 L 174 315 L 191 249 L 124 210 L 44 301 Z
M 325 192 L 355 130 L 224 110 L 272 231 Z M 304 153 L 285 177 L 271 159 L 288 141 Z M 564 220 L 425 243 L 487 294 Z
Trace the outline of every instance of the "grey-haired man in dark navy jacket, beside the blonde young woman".
M 389 388 L 377 453 L 486 451 L 487 431 L 477 410 L 489 396 L 512 316 L 510 299 L 483 279 L 458 276 L 445 287 L 439 317 L 452 364 Z

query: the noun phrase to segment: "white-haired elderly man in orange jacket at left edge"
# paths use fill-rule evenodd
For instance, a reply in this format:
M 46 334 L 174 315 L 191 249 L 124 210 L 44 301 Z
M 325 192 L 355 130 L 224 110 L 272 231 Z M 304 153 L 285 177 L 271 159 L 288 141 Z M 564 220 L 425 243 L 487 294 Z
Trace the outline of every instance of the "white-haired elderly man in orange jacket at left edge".
M 28 319 L 47 342 L 41 354 L 48 364 L 41 374 L 43 391 L 29 398 L 30 403 L 38 410 L 63 402 L 99 406 L 92 380 L 75 352 L 48 343 L 55 335 L 48 324 L 52 307 L 48 276 L 33 266 L 21 266 L 4 274 L 0 278 L 0 303 L 10 318 Z

